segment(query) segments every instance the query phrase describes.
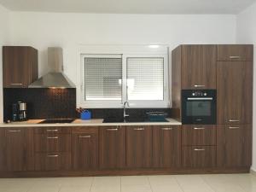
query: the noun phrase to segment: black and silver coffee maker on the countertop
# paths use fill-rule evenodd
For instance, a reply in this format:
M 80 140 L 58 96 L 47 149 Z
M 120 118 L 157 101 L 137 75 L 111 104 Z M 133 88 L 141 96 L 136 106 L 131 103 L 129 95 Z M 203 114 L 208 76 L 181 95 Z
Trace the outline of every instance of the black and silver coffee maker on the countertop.
M 25 121 L 26 102 L 15 102 L 12 104 L 12 121 Z

